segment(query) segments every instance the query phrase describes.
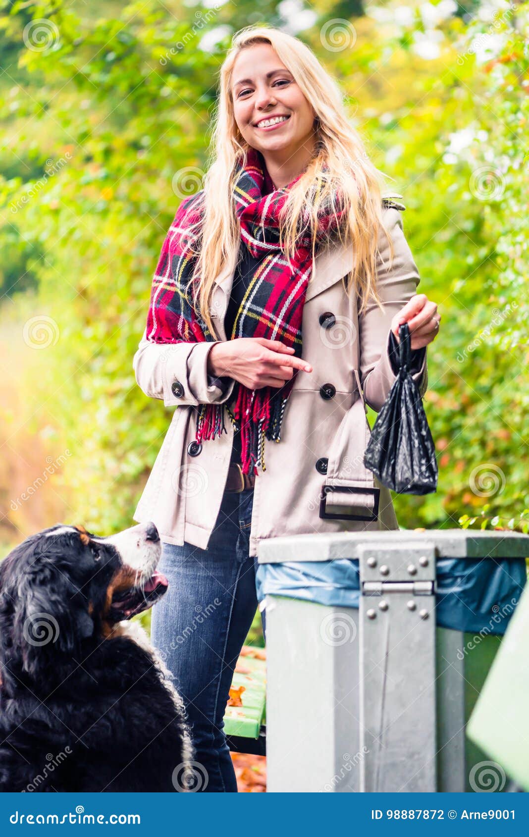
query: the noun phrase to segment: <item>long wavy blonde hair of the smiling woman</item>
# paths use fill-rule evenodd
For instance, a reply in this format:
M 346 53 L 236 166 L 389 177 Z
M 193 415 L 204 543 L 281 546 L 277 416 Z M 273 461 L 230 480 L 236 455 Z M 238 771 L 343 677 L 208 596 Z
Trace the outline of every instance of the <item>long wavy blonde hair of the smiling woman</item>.
M 192 224 L 188 227 L 188 243 L 197 257 L 193 276 L 199 277 L 195 287 L 195 305 L 213 334 L 209 306 L 214 280 L 226 264 L 234 263 L 239 251 L 239 219 L 234 208 L 233 187 L 249 148 L 234 118 L 231 75 L 241 50 L 254 44 L 271 45 L 316 112 L 316 156 L 312 157 L 300 179 L 289 189 L 281 219 L 281 249 L 285 257 L 291 259 L 295 252 L 296 231 L 299 234 L 300 229 L 308 228 L 313 234 L 314 258 L 319 208 L 323 204 L 334 212 L 339 209 L 344 223 L 338 231 L 338 238 L 342 244 L 353 245 L 352 268 L 344 277 L 344 289 L 347 293 L 352 288 L 357 292 L 360 312 L 367 306 L 371 295 L 382 307 L 376 288 L 376 259 L 379 229 L 382 228 L 388 235 L 382 221 L 383 178 L 386 175 L 368 159 L 360 136 L 347 120 L 342 91 L 311 49 L 280 29 L 249 26 L 234 35 L 220 69 L 209 166 L 203 180 L 203 219 L 194 242 L 195 230 Z M 315 189 L 316 182 L 322 187 Z M 342 196 L 339 208 L 333 199 L 336 192 Z M 193 200 L 190 201 L 191 205 L 193 203 Z M 186 223 L 185 215 L 183 223 Z M 198 232 L 198 226 L 196 230 Z M 390 260 L 393 260 L 393 242 L 389 236 L 388 241 Z

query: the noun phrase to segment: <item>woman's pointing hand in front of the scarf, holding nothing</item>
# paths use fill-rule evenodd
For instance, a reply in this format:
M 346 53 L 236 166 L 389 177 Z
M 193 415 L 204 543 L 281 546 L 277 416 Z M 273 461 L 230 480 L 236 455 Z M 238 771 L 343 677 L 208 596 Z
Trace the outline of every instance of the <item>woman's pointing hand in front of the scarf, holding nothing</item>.
M 283 387 L 295 369 L 312 372 L 310 363 L 292 357 L 293 347 L 265 337 L 237 337 L 216 343 L 208 354 L 208 372 L 228 375 L 249 389 Z

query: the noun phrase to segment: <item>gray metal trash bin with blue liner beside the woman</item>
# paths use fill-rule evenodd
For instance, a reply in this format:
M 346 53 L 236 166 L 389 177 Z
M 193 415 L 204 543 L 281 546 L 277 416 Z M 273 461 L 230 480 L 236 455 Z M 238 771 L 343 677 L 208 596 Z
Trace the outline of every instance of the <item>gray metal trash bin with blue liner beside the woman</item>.
M 478 789 L 472 768 L 486 757 L 465 738 L 465 723 L 526 581 L 526 555 L 529 537 L 503 531 L 342 532 L 261 542 L 269 791 Z M 316 562 L 331 570 L 335 562 L 357 562 L 357 607 L 344 605 L 347 585 L 337 588 L 321 573 L 316 596 L 307 593 L 303 567 L 324 566 Z M 480 593 L 489 619 L 470 596 L 469 624 L 459 602 L 456 624 L 439 625 L 443 562 L 471 567 L 478 580 L 492 568 L 494 583 Z M 277 575 L 285 567 L 299 578 L 285 589 L 272 573 L 267 583 L 273 568 Z M 471 585 L 465 573 L 460 578 L 453 598 L 467 607 Z

